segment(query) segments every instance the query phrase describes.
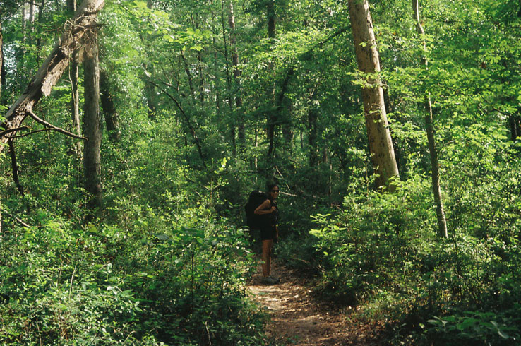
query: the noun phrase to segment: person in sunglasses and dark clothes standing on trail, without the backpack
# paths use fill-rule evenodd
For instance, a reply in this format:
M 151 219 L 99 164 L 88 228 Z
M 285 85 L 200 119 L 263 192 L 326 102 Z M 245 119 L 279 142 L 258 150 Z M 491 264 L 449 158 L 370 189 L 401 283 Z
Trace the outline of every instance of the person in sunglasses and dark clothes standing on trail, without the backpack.
M 277 221 L 279 219 L 279 210 L 277 202 L 275 201 L 279 196 L 279 186 L 270 184 L 268 186 L 268 198 L 261 205 L 259 205 L 254 213 L 256 215 L 263 215 L 261 225 L 261 239 L 263 242 L 263 280 L 262 282 L 268 285 L 278 283 L 280 280 L 271 276 L 271 250 L 273 242 L 279 238 L 279 231 L 277 229 Z

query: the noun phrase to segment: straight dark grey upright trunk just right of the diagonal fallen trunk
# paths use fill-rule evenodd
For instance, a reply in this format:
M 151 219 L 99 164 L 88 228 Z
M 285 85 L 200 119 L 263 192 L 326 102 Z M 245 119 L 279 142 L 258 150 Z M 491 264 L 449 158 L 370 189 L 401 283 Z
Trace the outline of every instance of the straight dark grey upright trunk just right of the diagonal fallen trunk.
M 85 101 L 83 103 L 83 129 L 88 141 L 83 150 L 85 189 L 92 194 L 89 208 L 101 206 L 101 121 L 100 121 L 100 64 L 96 33 L 90 35 L 90 47 L 83 60 Z

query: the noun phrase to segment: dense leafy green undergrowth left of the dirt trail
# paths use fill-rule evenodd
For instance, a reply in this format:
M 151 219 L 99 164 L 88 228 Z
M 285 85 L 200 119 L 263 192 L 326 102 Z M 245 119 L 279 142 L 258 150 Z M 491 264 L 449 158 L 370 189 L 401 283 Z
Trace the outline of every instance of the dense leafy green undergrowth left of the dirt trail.
M 41 165 L 3 201 L 0 345 L 263 343 L 249 235 L 220 198 L 225 162 L 204 175 L 164 141 L 107 145 L 107 208 L 85 224 L 74 156 L 25 144 L 21 165 Z

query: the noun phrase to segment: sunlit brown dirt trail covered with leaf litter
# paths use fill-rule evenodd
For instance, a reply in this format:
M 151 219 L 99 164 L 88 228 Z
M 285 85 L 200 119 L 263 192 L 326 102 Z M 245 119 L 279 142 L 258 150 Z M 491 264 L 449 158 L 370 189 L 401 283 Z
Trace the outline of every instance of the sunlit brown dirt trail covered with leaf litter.
M 385 345 L 382 327 L 355 322 L 357 307 L 339 309 L 333 302 L 313 297 L 313 280 L 275 261 L 272 275 L 277 285 L 263 285 L 258 266 L 248 288 L 270 315 L 266 335 L 273 345 L 343 346 Z

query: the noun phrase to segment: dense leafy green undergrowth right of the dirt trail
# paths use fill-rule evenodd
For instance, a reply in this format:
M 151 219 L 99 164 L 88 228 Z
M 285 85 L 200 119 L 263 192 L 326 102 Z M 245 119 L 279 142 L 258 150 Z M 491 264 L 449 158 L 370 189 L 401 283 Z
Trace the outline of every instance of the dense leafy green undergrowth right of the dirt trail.
M 519 165 L 496 157 L 489 175 L 467 176 L 486 160 L 447 172 L 459 182 L 445 192 L 448 239 L 436 235 L 430 181 L 413 176 L 396 193 L 353 190 L 280 255 L 318 273 L 318 297 L 384 323 L 392 345 L 518 345 Z

